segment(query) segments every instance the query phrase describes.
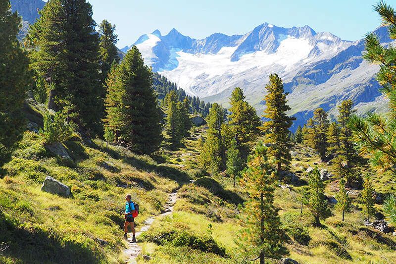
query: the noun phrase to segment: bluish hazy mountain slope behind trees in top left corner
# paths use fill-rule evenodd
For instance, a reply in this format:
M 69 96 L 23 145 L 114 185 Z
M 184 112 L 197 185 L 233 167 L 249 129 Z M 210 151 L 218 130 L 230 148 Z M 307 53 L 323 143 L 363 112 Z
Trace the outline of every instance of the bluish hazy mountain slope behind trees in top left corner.
M 43 0 L 10 0 L 11 10 L 18 11 L 22 20 L 33 24 L 40 17 L 39 10 L 46 4 Z

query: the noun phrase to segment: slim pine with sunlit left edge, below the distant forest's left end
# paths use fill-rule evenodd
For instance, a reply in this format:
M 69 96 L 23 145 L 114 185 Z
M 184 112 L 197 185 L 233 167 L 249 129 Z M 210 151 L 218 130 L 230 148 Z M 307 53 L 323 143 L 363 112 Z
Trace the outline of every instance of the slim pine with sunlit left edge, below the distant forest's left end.
M 166 111 L 166 129 L 165 132 L 169 137 L 169 142 L 172 148 L 180 145 L 180 141 L 183 138 L 182 120 L 180 112 L 177 108 L 177 103 L 169 102 L 168 109 Z

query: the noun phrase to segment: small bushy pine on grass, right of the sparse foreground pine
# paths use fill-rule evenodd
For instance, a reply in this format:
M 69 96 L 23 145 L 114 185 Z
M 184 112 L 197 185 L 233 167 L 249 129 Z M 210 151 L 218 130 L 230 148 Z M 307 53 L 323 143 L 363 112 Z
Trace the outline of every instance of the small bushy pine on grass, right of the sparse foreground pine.
M 320 179 L 320 172 L 315 167 L 308 175 L 309 200 L 307 206 L 315 218 L 315 226 L 320 226 L 320 218 L 327 213 L 327 200 L 324 194 L 325 186 Z

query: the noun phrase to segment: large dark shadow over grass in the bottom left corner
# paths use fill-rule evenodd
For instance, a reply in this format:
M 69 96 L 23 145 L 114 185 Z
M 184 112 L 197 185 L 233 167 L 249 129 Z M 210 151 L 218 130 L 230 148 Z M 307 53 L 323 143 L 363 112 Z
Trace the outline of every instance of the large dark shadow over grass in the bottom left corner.
M 9 248 L 4 257 L 22 263 L 101 263 L 104 256 L 83 243 L 62 241 L 53 231 L 21 228 L 0 212 L 0 242 Z

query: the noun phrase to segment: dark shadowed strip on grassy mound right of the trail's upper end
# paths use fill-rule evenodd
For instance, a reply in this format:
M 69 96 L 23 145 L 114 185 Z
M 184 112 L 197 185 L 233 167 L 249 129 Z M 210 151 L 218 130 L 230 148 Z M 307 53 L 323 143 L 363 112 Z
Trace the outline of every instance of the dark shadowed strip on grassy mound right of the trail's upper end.
M 236 194 L 235 192 L 224 190 L 223 186 L 220 185 L 217 181 L 208 178 L 202 177 L 194 182 L 194 184 L 201 186 L 211 192 L 213 195 L 227 201 L 228 203 L 239 205 L 244 202 L 244 200 Z

